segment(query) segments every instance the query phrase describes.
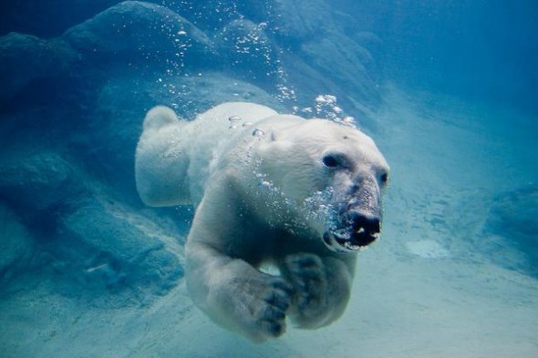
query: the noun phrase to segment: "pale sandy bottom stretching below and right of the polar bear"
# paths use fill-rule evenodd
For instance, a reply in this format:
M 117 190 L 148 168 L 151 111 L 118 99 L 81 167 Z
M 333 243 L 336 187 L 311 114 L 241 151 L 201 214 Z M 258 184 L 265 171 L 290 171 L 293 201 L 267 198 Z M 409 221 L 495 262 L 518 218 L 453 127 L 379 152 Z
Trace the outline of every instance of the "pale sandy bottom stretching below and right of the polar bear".
M 147 307 L 96 309 L 43 282 L 0 301 L 0 356 L 538 356 L 538 281 L 477 243 L 481 200 L 537 178 L 531 120 L 396 89 L 387 102 L 374 134 L 392 167 L 383 238 L 360 253 L 340 321 L 254 345 L 194 309 L 184 285 Z

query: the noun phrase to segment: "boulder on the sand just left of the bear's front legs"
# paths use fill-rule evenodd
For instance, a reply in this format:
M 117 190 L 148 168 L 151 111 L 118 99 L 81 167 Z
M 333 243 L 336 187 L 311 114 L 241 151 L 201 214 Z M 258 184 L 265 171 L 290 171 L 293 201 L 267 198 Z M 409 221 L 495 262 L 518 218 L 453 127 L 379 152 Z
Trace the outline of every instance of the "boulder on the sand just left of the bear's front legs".
M 98 292 L 128 290 L 139 301 L 169 292 L 181 279 L 177 230 L 172 236 L 170 227 L 163 230 L 151 215 L 141 216 L 108 196 L 84 199 L 73 208 L 58 222 L 53 252 L 61 276 Z

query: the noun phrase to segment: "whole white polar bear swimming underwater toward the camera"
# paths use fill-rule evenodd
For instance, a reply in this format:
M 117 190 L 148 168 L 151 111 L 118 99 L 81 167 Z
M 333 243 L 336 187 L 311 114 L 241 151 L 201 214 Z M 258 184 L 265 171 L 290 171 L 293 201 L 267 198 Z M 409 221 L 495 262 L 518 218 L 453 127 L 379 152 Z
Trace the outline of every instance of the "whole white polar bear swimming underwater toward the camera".
M 193 121 L 151 109 L 135 171 L 146 204 L 196 207 L 191 298 L 254 342 L 285 332 L 286 317 L 314 329 L 344 312 L 388 181 L 387 161 L 357 128 L 241 102 Z

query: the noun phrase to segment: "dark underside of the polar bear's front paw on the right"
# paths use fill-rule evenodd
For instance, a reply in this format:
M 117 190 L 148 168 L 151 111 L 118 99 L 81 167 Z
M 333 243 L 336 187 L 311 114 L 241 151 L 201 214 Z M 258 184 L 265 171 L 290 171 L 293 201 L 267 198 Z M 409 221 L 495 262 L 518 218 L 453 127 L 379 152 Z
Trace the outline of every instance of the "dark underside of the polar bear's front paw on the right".
M 328 305 L 326 270 L 319 256 L 310 253 L 289 255 L 282 267 L 294 286 L 291 314 L 303 328 L 315 328 L 326 316 Z

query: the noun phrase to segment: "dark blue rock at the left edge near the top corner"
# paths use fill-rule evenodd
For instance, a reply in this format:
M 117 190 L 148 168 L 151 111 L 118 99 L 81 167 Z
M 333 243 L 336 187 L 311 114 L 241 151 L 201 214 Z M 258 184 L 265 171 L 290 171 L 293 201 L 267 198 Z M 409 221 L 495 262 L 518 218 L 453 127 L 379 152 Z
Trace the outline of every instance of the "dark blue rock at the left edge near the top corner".
M 14 97 L 32 80 L 67 72 L 76 54 L 64 41 L 10 33 L 0 37 L 0 101 Z

